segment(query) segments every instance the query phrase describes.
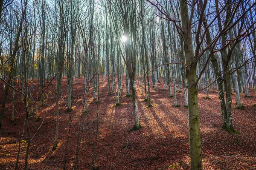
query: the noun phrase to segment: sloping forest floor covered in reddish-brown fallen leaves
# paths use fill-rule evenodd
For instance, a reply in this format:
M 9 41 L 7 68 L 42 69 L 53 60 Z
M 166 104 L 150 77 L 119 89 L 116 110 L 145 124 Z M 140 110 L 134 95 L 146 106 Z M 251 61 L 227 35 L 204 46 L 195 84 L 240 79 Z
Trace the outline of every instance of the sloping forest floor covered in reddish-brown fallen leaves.
M 125 78 L 125 77 L 124 77 Z M 125 80 L 125 79 L 124 79 Z M 80 83 L 79 83 L 80 82 Z M 73 169 L 81 122 L 83 79 L 73 83 L 73 110 L 70 139 L 67 149 L 66 169 Z M 37 84 L 37 83 L 36 83 Z M 2 87 L 2 82 L 0 83 Z M 46 83 L 46 86 L 48 83 Z M 35 87 L 34 87 L 35 88 Z M 177 92 L 177 104 L 169 98 L 168 88 L 163 91 L 163 82 L 157 89 L 151 87 L 153 107 L 146 108 L 141 87 L 137 86 L 137 104 L 140 124 L 137 131 L 129 130 L 134 126 L 134 112 L 131 98 L 125 97 L 126 88 L 122 87 L 120 106 L 114 106 L 115 94 L 108 95 L 108 86 L 100 77 L 99 105 L 93 100 L 93 88 L 88 92 L 88 108 L 84 119 L 81 145 L 79 146 L 78 169 L 89 169 L 93 159 L 93 144 L 97 129 L 96 108 L 99 107 L 99 130 L 96 140 L 94 169 L 99 170 L 167 170 L 190 169 L 188 113 L 183 107 L 183 92 Z M 35 122 L 35 115 L 29 118 L 32 143 L 29 153 L 30 170 L 63 169 L 64 154 L 69 136 L 69 113 L 67 111 L 67 79 L 62 82 L 60 102 L 59 143 L 52 151 L 55 138 L 56 90 L 55 80 L 46 91 L 46 106 L 39 106 L 40 121 Z M 172 86 L 173 90 L 173 86 Z M 183 90 L 182 90 L 183 91 Z M 174 92 L 173 92 L 174 93 Z M 32 91 L 36 98 L 36 88 Z M 244 110 L 236 109 L 236 95 L 233 96 L 233 125 L 240 134 L 230 134 L 221 130 L 221 109 L 218 91 L 211 89 L 210 99 L 206 92 L 198 92 L 198 105 L 201 126 L 203 167 L 206 170 L 252 170 L 256 169 L 256 92 L 249 91 L 250 97 L 241 94 Z M 4 91 L 0 92 L 2 102 Z M 20 94 L 15 94 L 15 122 L 12 119 L 12 94 L 3 117 L 0 139 L 0 169 L 15 168 L 19 136 L 23 133 L 25 119 L 24 104 Z M 48 96 L 48 97 L 47 97 Z M 1 104 L 1 103 L 0 103 Z M 2 104 L 1 104 L 2 105 Z M 35 106 L 34 106 L 35 112 Z M 27 132 L 24 128 L 18 169 L 24 168 L 27 145 Z

